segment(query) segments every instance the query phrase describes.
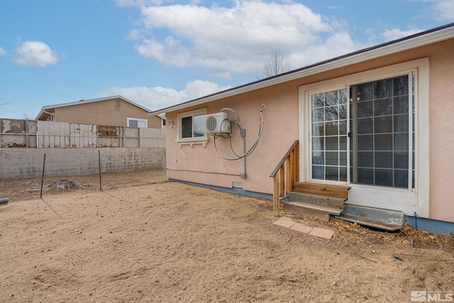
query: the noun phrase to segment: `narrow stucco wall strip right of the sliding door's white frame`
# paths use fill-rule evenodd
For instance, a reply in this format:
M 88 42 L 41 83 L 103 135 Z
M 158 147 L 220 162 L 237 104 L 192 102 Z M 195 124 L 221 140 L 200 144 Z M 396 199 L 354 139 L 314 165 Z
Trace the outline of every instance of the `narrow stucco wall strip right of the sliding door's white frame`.
M 454 40 L 438 43 L 430 57 L 430 204 L 433 219 L 454 214 Z

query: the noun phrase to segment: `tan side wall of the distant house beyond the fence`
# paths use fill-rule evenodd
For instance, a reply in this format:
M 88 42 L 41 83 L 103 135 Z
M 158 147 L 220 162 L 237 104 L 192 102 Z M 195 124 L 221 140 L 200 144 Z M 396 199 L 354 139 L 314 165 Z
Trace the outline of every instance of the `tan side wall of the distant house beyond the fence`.
M 148 120 L 148 128 L 161 128 L 157 116 L 147 116 L 148 111 L 121 100 L 121 110 L 116 109 L 116 99 L 76 104 L 55 108 L 55 122 L 88 123 L 106 126 L 127 126 L 126 118 Z

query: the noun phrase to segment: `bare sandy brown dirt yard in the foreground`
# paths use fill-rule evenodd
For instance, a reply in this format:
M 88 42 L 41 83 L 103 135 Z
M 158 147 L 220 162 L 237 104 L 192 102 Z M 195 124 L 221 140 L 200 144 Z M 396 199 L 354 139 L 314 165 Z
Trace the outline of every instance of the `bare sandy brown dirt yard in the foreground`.
M 0 302 L 410 302 L 454 292 L 454 238 L 294 218 L 162 171 L 0 180 Z M 87 184 L 91 184 L 88 186 Z M 416 246 L 411 248 L 413 239 Z M 397 255 L 399 258 L 393 258 Z

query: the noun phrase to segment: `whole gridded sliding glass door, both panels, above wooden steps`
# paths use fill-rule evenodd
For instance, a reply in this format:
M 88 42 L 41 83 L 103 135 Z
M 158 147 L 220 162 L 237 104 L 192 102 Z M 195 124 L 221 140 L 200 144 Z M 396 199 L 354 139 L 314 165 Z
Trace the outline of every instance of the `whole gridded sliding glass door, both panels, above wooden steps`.
M 312 180 L 411 189 L 411 74 L 317 92 L 309 97 Z

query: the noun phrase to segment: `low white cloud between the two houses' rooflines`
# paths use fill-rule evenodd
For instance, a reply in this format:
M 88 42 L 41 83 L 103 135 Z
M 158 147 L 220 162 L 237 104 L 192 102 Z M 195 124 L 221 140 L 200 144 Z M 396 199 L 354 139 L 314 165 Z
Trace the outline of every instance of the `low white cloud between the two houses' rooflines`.
M 195 80 L 187 82 L 181 91 L 170 87 L 110 87 L 98 92 L 97 96 L 101 98 L 121 95 L 150 110 L 157 110 L 228 88 L 230 87 L 220 87 L 214 82 Z

